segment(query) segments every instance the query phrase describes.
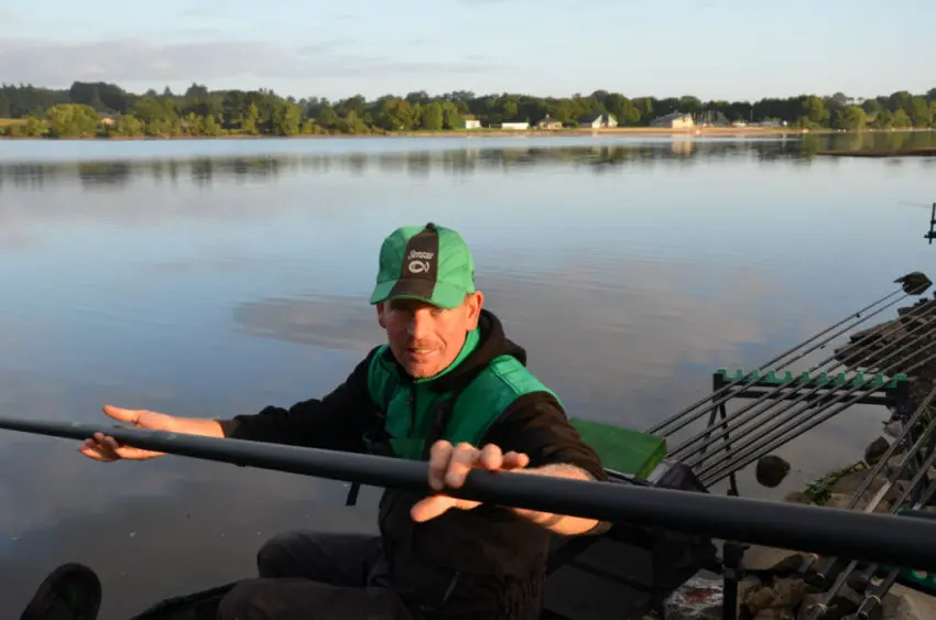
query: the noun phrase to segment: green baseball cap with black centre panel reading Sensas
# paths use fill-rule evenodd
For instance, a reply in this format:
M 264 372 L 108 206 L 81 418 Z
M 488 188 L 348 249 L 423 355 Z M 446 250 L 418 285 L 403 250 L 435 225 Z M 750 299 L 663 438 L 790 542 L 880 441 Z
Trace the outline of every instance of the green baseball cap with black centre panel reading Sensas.
M 404 226 L 383 240 L 371 304 L 409 298 L 454 308 L 472 292 L 475 262 L 455 230 L 433 222 Z

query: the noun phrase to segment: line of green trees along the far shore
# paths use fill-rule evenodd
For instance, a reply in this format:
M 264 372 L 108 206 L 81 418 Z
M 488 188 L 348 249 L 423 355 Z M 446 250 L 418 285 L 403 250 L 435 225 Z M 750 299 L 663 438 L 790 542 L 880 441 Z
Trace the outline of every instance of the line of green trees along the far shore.
M 646 127 L 657 117 L 690 115 L 697 124 L 787 123 L 804 129 L 900 129 L 936 127 L 936 88 L 871 98 L 797 95 L 758 101 L 703 101 L 698 97 L 627 97 L 596 90 L 572 97 L 522 94 L 476 95 L 467 90 L 409 93 L 368 100 L 295 99 L 269 89 L 132 94 L 108 83 L 75 81 L 68 89 L 0 85 L 0 127 L 9 137 L 220 137 L 391 133 L 459 130 L 467 120 L 483 128 L 549 117 L 564 127 L 613 116 L 620 127 Z

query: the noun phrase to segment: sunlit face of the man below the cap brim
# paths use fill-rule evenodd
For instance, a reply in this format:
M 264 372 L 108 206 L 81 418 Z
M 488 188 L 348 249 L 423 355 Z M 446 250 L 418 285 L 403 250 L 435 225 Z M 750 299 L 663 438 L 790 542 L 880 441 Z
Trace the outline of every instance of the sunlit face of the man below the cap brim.
M 478 326 L 482 303 L 480 292 L 450 309 L 417 300 L 390 300 L 377 304 L 377 317 L 396 361 L 414 379 L 427 379 L 458 357 L 468 331 Z

